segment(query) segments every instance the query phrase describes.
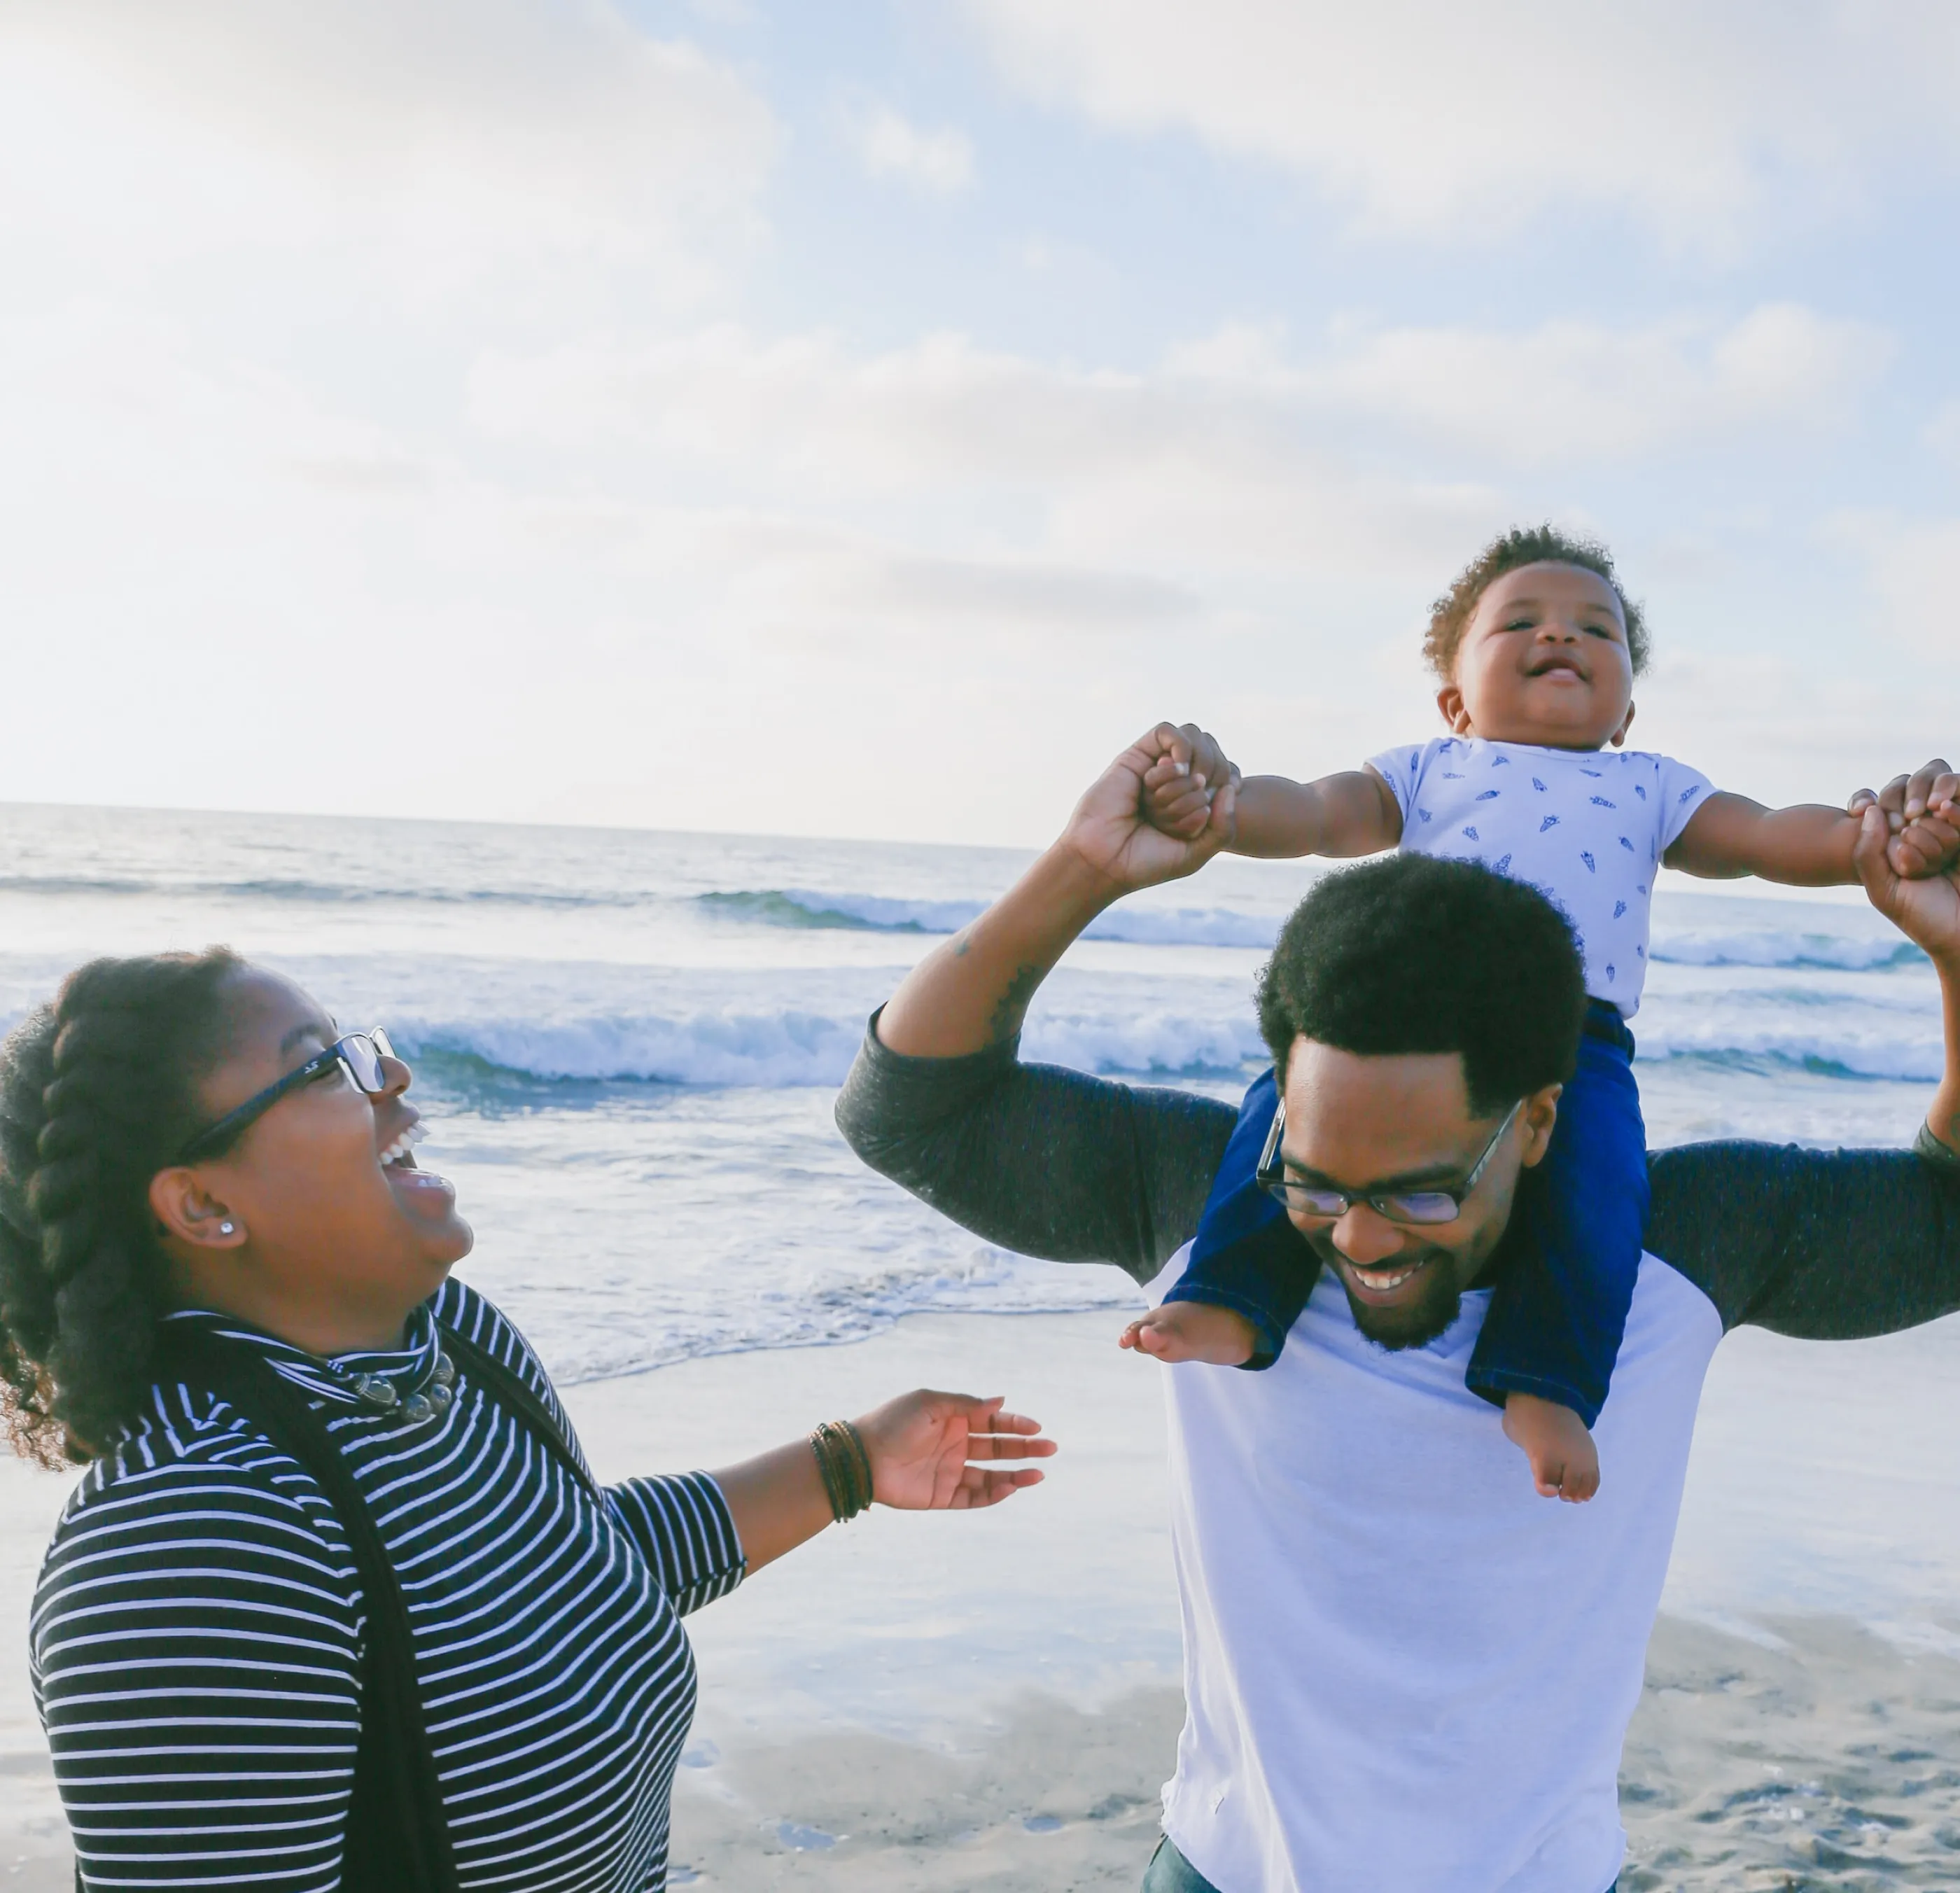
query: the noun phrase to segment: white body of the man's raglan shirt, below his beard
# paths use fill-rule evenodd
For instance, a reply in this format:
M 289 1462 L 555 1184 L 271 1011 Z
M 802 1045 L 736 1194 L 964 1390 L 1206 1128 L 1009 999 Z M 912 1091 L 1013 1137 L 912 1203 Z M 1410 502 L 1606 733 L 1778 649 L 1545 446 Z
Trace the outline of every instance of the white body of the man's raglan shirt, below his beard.
M 1164 1830 L 1219 1893 L 1619 1873 L 1621 1742 L 1721 1319 L 1642 1256 L 1593 1429 L 1611 1478 L 1560 1505 L 1464 1387 L 1488 1305 L 1388 1352 L 1323 1274 L 1264 1374 L 1164 1372 L 1186 1687 Z

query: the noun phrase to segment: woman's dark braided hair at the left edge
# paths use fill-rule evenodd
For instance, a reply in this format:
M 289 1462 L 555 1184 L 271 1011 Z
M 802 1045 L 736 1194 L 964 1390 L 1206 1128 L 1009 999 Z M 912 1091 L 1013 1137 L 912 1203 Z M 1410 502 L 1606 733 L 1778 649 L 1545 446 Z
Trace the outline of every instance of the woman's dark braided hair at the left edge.
M 43 1466 L 114 1442 L 165 1307 L 149 1180 L 198 1129 L 237 954 L 90 960 L 0 1046 L 0 1427 Z

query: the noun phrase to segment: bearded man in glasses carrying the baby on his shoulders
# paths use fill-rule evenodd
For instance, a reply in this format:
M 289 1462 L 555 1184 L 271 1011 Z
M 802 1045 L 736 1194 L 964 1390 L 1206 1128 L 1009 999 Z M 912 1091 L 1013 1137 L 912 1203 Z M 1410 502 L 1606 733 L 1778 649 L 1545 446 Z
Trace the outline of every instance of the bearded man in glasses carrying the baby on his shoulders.
M 1021 882 L 900 986 L 837 1117 L 868 1164 L 986 1238 L 1168 1286 L 1233 1111 L 1015 1056 L 1035 988 L 1082 929 L 1194 872 L 1229 829 L 1231 788 L 1192 843 L 1145 825 L 1152 760 L 1145 743 L 1117 758 Z M 1327 1270 L 1274 1368 L 1168 1370 L 1188 1711 L 1147 1893 L 1611 1887 L 1619 1750 L 1717 1340 L 1744 1321 L 1876 1335 L 1960 1307 L 1960 868 L 1901 880 L 1886 811 L 1931 798 L 1944 817 L 1921 833 L 1950 858 L 1942 772 L 1870 801 L 1858 843 L 1872 903 L 1938 968 L 1946 1070 L 1929 1127 L 1913 1152 L 1729 1142 L 1652 1158 L 1648 1254 L 1599 1419 L 1607 1480 L 1584 1507 L 1517 1478 L 1462 1383 L 1558 1095 L 1556 1062 L 1494 1078 L 1492 1027 L 1531 1037 L 1566 1005 L 1568 1056 L 1570 935 L 1541 907 L 1554 925 L 1527 927 L 1537 966 L 1519 978 L 1503 903 L 1535 903 L 1529 890 L 1462 866 L 1492 901 L 1470 890 L 1439 941 L 1411 878 L 1435 864 L 1354 870 L 1374 964 L 1411 994 L 1384 1007 L 1343 997 L 1352 896 L 1321 913 L 1341 925 L 1288 925 L 1292 958 L 1266 982 L 1280 1156 L 1345 1201 L 1296 1219 Z M 1517 1099 L 1490 1095 L 1509 1084 Z M 1456 1219 L 1382 1215 L 1417 1186 L 1456 1195 Z

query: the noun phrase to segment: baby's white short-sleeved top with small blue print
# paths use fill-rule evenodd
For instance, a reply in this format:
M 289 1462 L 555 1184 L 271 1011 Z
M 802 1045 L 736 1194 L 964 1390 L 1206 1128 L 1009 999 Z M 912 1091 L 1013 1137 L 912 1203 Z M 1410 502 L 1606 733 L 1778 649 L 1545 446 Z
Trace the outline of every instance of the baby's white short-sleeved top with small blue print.
M 1646 980 L 1660 856 L 1715 794 L 1699 770 L 1629 749 L 1437 737 L 1370 756 L 1401 803 L 1401 847 L 1480 860 L 1566 911 L 1586 992 L 1629 1019 Z

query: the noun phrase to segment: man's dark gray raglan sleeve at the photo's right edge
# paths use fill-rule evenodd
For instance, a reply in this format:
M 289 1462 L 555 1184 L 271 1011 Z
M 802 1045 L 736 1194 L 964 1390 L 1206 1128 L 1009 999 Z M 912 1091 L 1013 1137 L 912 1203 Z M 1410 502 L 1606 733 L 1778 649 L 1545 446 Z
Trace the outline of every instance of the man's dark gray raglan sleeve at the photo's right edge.
M 1891 1335 L 1960 1311 L 1960 1156 L 1684 1144 L 1648 1158 L 1646 1246 L 1723 1327 L 1807 1340 Z

